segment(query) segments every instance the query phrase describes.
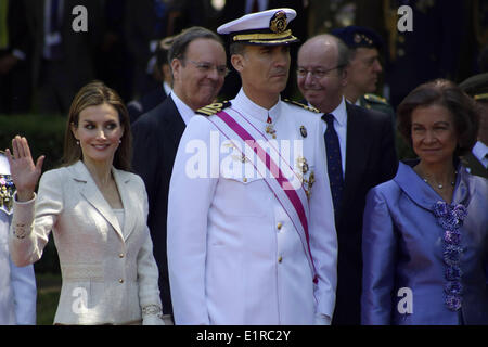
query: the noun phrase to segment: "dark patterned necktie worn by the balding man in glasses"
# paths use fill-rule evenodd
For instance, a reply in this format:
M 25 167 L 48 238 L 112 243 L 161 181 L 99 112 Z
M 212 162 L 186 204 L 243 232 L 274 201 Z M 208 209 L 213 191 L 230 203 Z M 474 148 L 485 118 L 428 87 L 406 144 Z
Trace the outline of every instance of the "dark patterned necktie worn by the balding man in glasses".
M 328 124 L 328 129 L 325 130 L 323 137 L 325 139 L 328 172 L 329 182 L 331 184 L 332 202 L 334 203 L 334 211 L 335 214 L 337 214 L 341 205 L 341 196 L 344 189 L 341 146 L 337 132 L 334 129 L 334 116 L 332 114 L 325 114 L 322 116 L 322 119 Z

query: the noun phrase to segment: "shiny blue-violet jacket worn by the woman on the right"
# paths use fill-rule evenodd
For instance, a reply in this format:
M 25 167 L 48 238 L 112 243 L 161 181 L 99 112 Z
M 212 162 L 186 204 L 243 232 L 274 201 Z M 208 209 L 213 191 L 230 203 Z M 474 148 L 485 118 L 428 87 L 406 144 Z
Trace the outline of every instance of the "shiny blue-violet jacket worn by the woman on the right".
M 488 181 L 463 166 L 458 172 L 451 204 L 467 208 L 460 228 L 461 309 L 445 304 L 445 229 L 434 215 L 442 198 L 400 163 L 396 177 L 367 197 L 362 324 L 488 324 Z

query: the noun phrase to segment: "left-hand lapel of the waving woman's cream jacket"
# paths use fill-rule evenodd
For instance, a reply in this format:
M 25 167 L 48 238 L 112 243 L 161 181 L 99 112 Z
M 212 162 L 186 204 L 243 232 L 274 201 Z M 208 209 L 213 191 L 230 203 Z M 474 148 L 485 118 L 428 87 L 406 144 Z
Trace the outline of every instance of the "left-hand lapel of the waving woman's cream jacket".
M 117 234 L 124 240 L 117 217 L 112 211 L 112 207 L 100 192 L 97 183 L 88 171 L 82 162 L 78 162 L 73 166 L 75 181 L 84 183 L 80 188 L 80 194 L 105 218 L 114 228 Z

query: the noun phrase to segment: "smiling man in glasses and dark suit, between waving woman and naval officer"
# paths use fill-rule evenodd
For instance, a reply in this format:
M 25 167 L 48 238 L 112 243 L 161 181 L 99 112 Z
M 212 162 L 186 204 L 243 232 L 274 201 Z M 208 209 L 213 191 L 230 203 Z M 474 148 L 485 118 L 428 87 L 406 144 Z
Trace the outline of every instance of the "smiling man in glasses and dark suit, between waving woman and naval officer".
M 174 89 L 157 107 L 132 125 L 132 165 L 149 196 L 147 226 L 159 268 L 163 312 L 172 314 L 166 256 L 169 179 L 180 138 L 195 111 L 215 101 L 227 74 L 221 39 L 203 27 L 178 35 L 168 52 Z M 184 210 L 180 211 L 185 214 Z

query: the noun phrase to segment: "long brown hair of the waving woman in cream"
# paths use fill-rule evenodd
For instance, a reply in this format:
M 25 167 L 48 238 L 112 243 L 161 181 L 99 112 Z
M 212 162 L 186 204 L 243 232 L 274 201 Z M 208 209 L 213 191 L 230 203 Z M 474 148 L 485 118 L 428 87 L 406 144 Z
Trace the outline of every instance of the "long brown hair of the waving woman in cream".
M 69 107 L 69 115 L 64 134 L 63 166 L 69 166 L 82 159 L 81 149 L 76 143 L 77 140 L 72 131 L 72 126 L 78 128 L 80 112 L 89 106 L 102 104 L 108 104 L 117 111 L 119 123 L 124 128 L 124 134 L 120 138 L 121 142 L 115 152 L 113 165 L 117 169 L 130 171 L 132 137 L 130 132 L 129 113 L 117 92 L 97 80 L 82 87 L 76 94 L 72 106 Z

